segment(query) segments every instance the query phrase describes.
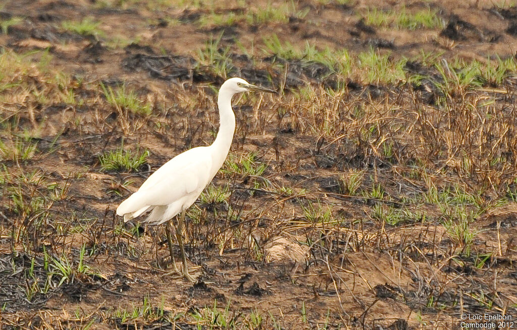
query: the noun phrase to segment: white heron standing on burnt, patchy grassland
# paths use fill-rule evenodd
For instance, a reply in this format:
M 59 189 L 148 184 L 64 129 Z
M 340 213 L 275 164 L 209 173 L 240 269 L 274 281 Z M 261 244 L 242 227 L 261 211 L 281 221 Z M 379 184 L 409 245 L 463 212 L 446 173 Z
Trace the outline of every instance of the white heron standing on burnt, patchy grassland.
M 173 271 L 190 281 L 193 278 L 189 275 L 187 257 L 181 240 L 185 211 L 194 204 L 197 197 L 211 182 L 230 152 L 235 132 L 232 96 L 250 90 L 276 93 L 276 91 L 268 88 L 251 85 L 241 78 L 226 80 L 219 89 L 217 97 L 220 124 L 214 143 L 208 146 L 194 147 L 172 158 L 151 174 L 138 191 L 117 207 L 117 215 L 124 216 L 125 222 L 148 211 L 150 213 L 143 222 L 155 225 L 168 222 L 165 226 L 165 233 L 169 243 Z M 176 267 L 169 228 L 172 222 L 169 220 L 172 220 L 178 214 L 180 216 L 176 226 L 176 239 L 183 261 L 182 272 L 179 272 Z

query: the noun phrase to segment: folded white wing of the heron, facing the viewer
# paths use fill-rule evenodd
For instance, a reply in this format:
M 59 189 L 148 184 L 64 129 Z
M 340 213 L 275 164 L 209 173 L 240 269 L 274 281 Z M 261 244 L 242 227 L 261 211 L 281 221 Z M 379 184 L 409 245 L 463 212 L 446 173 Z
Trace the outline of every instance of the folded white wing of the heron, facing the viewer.
M 146 206 L 169 205 L 192 192 L 201 192 L 211 179 L 211 158 L 202 148 L 190 149 L 163 164 L 118 206 L 117 215 Z

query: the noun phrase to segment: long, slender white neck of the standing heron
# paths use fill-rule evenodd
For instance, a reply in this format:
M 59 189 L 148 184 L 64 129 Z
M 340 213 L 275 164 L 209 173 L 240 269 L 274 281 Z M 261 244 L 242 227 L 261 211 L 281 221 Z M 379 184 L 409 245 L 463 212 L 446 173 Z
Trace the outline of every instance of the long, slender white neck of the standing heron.
M 217 97 L 220 124 L 216 140 L 212 143 L 216 173 L 230 152 L 230 146 L 232 145 L 233 134 L 235 132 L 235 114 L 232 110 L 232 96 L 233 95 L 227 91 L 219 91 L 219 96 Z

